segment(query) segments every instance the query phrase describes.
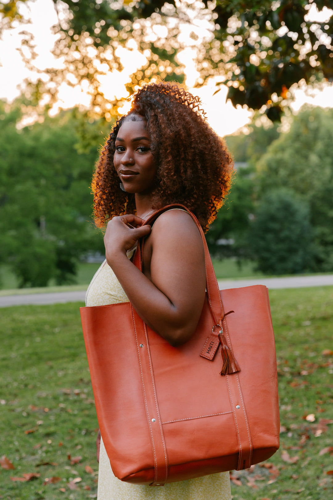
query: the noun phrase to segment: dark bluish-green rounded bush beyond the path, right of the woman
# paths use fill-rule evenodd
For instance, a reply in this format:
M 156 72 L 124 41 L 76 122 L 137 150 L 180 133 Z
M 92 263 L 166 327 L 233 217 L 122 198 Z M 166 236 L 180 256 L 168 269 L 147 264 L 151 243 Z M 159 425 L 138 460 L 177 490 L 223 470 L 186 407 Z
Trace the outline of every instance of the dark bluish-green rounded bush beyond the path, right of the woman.
M 277 189 L 261 200 L 249 242 L 258 270 L 294 274 L 311 267 L 313 258 L 310 210 L 293 191 Z

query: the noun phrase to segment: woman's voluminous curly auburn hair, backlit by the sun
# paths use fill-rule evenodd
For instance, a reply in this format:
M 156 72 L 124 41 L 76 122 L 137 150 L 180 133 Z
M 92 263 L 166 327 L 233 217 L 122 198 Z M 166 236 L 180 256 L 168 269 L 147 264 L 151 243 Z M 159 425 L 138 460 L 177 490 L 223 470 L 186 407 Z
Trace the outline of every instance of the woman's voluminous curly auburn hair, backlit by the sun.
M 230 188 L 233 162 L 200 105 L 199 97 L 175 83 L 148 83 L 137 90 L 130 111 L 116 121 L 96 164 L 92 190 L 98 227 L 115 215 L 135 213 L 134 194 L 120 189 L 113 155 L 122 122 L 141 119 L 140 115 L 147 122 L 157 169 L 152 208 L 181 203 L 208 230 Z

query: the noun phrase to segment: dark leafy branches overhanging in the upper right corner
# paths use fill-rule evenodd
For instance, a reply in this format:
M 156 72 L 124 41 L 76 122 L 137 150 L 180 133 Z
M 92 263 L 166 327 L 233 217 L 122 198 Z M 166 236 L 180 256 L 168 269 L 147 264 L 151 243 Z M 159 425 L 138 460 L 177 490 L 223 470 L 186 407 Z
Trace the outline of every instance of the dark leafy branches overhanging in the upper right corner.
M 330 0 L 316 4 L 320 9 L 332 8 Z M 247 104 L 259 109 L 267 104 L 268 117 L 276 120 L 281 116 L 280 104 L 291 85 L 301 79 L 310 83 L 323 76 L 332 81 L 333 47 L 326 46 L 320 36 L 322 32 L 332 32 L 333 18 L 318 25 L 306 21 L 310 5 L 308 0 L 265 0 L 250 4 L 217 0 L 215 40 L 223 44 L 227 55 L 222 53 L 216 66 L 227 60 L 234 64 L 228 77 L 231 85 L 228 97 L 234 105 Z M 309 52 L 304 57 L 305 44 Z

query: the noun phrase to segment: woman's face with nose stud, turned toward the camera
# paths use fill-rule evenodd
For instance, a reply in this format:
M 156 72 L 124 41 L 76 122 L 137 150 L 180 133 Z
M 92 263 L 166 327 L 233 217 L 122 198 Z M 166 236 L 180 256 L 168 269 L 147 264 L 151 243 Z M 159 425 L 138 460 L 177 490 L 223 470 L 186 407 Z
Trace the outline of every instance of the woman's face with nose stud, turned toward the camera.
M 150 149 L 146 121 L 124 121 L 115 140 L 113 164 L 125 191 L 149 194 L 152 191 L 156 166 Z

